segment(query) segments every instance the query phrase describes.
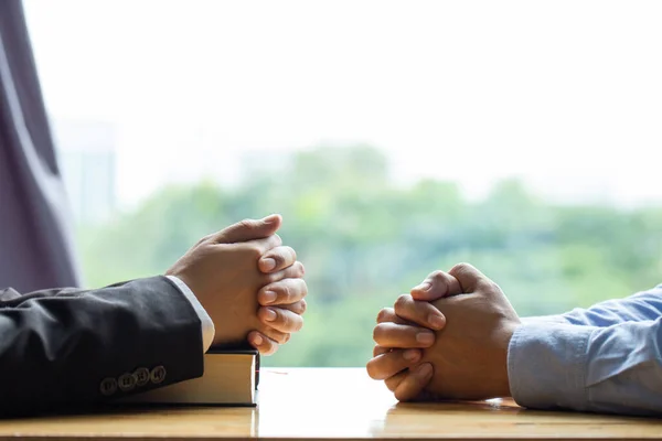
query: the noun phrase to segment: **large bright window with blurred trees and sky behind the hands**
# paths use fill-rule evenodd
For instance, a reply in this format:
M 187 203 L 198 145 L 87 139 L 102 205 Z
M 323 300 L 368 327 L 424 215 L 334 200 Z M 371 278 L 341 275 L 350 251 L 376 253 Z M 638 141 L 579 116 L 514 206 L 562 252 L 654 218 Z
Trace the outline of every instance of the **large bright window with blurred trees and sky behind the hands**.
M 25 7 L 86 283 L 281 213 L 310 308 L 268 364 L 363 365 L 457 261 L 521 315 L 661 281 L 659 2 Z

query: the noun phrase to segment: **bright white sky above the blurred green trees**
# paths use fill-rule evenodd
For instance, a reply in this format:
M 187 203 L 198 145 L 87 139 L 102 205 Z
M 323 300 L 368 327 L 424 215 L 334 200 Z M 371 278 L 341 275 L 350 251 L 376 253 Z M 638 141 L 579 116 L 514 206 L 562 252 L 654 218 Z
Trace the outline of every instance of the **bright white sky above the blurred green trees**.
M 50 112 L 118 129 L 125 204 L 345 141 L 404 182 L 662 202 L 659 1 L 25 3 Z

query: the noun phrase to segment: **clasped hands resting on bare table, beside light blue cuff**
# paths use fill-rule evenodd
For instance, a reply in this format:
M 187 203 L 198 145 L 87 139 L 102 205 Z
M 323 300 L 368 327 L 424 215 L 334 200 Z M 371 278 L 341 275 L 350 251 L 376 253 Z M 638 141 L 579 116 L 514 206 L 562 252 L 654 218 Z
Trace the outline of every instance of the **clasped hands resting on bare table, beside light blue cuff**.
M 435 271 L 377 315 L 367 373 L 398 400 L 510 396 L 508 346 L 520 319 L 468 263 Z

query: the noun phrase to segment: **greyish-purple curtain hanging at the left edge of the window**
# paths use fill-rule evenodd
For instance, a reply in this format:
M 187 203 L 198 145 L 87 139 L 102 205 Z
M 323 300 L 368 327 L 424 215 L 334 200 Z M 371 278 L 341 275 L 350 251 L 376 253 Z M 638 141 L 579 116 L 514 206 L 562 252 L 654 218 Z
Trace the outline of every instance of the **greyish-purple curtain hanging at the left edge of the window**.
M 0 1 L 0 288 L 76 287 L 70 209 L 20 0 Z

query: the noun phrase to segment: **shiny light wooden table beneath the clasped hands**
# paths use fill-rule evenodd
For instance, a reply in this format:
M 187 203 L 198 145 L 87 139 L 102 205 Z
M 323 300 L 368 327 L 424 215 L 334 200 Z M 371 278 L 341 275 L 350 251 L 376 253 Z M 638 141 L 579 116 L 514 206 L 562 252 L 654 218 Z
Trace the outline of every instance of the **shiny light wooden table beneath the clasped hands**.
M 257 408 L 151 408 L 0 420 L 0 439 L 662 439 L 662 420 L 525 410 L 510 400 L 397 404 L 364 369 L 265 369 Z

